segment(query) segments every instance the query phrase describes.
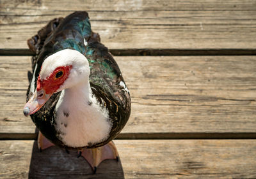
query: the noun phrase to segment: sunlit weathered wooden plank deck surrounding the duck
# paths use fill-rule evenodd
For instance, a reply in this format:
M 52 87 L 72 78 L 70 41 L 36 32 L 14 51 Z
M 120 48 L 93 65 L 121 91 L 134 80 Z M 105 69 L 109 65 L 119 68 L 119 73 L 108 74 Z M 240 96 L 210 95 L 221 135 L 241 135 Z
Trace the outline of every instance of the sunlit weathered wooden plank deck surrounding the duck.
M 49 20 L 86 10 L 115 55 L 132 113 L 120 162 L 92 169 L 76 152 L 36 148 L 24 117 L 31 52 Z M 256 2 L 0 3 L 0 178 L 256 178 Z

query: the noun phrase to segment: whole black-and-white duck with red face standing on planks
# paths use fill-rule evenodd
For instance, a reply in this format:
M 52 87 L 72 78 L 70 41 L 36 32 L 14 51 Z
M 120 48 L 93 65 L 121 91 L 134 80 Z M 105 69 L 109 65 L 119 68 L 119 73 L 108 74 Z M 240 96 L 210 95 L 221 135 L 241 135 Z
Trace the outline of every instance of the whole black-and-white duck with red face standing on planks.
M 77 150 L 96 173 L 105 159 L 118 161 L 113 139 L 129 119 L 131 96 L 89 19 L 75 11 L 28 39 L 35 55 L 23 113 L 39 130 L 40 151 L 52 145 Z

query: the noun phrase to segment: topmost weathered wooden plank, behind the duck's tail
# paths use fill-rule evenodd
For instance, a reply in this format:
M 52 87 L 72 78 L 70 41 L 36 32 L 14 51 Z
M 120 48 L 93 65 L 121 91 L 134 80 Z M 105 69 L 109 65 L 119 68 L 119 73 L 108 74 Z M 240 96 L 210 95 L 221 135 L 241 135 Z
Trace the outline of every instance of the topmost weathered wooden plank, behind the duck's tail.
M 239 1 L 1 1 L 0 48 L 26 48 L 49 20 L 87 10 L 108 48 L 256 48 L 256 3 Z

